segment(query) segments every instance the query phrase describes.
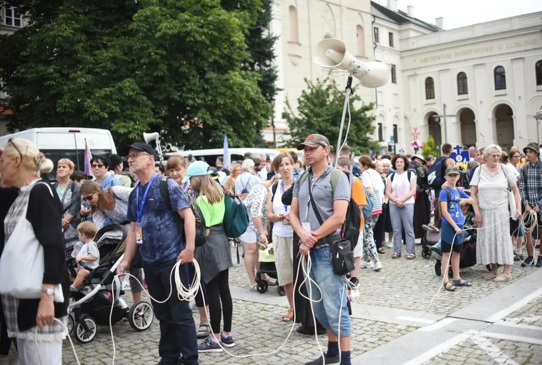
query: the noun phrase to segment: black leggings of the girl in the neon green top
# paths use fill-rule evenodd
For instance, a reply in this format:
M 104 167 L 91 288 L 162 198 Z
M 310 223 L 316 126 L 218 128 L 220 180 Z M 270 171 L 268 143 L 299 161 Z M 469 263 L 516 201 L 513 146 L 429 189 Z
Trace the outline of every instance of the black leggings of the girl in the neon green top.
M 231 317 L 233 317 L 234 306 L 231 301 L 228 277 L 229 269 L 222 270 L 205 286 L 209 299 L 209 321 L 211 322 L 212 333 L 220 333 L 222 314 L 224 314 L 224 332 L 231 332 Z

